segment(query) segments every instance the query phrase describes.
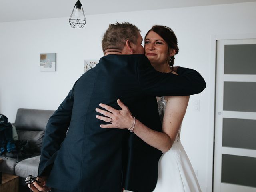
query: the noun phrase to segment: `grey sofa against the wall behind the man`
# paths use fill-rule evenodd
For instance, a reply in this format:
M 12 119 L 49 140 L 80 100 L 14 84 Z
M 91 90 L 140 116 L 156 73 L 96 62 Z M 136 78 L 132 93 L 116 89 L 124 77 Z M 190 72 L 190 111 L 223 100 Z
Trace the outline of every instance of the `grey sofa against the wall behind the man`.
M 0 156 L 4 160 L 0 163 L 0 171 L 20 176 L 20 180 L 30 174 L 37 176 L 44 131 L 53 113 L 52 110 L 18 109 L 14 123 L 18 139 L 27 140 L 35 152 L 30 157 L 19 159 L 18 163 L 17 158 Z

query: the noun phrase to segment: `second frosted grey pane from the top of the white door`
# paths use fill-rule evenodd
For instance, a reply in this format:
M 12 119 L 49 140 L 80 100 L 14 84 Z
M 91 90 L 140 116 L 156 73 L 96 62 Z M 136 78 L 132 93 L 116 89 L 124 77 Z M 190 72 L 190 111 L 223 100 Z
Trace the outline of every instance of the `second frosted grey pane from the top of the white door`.
M 256 112 L 256 82 L 224 82 L 223 110 Z

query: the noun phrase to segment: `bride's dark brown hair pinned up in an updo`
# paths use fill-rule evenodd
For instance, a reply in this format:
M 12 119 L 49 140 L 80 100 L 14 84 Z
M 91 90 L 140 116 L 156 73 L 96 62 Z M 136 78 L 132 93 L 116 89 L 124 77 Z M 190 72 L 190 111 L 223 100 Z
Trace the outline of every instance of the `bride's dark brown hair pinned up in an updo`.
M 178 48 L 177 37 L 176 37 L 176 35 L 174 34 L 173 30 L 170 27 L 166 27 L 166 26 L 163 26 L 163 25 L 154 25 L 147 32 L 146 36 L 148 35 L 148 33 L 150 31 L 154 31 L 155 33 L 157 33 L 160 37 L 162 37 L 164 39 L 164 41 L 168 44 L 168 52 L 169 52 L 169 49 L 171 48 L 171 49 L 176 50 L 175 54 L 178 54 L 179 48 Z M 146 36 L 145 36 L 144 39 L 146 39 Z M 175 59 L 174 56 L 172 56 L 171 62 L 169 62 L 170 57 L 168 58 L 167 62 L 170 66 L 173 66 L 174 59 Z

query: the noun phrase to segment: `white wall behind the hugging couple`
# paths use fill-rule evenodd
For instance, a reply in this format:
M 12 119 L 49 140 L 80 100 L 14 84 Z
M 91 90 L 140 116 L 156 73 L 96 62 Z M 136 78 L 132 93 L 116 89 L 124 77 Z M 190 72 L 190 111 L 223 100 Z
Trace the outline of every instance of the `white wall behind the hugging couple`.
M 129 21 L 144 36 L 154 24 L 170 26 L 178 37 L 175 65 L 198 70 L 210 84 L 210 41 L 215 34 L 256 33 L 256 2 L 89 15 L 82 29 L 68 18 L 0 23 L 0 113 L 14 122 L 18 108 L 55 110 L 83 74 L 84 59 L 103 56 L 101 38 L 109 23 Z M 56 72 L 40 72 L 40 53 L 57 53 Z M 239 53 L 238 53 L 239 54 Z M 182 125 L 184 148 L 203 191 L 211 191 L 213 87 L 191 96 Z M 211 94 L 210 94 L 211 93 Z M 192 100 L 200 100 L 194 112 Z

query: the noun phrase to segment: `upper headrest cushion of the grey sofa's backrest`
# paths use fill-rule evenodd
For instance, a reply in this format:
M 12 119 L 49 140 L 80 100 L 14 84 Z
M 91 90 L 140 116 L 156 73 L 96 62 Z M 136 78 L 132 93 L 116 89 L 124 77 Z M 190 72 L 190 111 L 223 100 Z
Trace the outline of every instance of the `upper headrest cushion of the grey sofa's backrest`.
M 54 111 L 40 109 L 18 109 L 15 119 L 16 130 L 45 130 Z

